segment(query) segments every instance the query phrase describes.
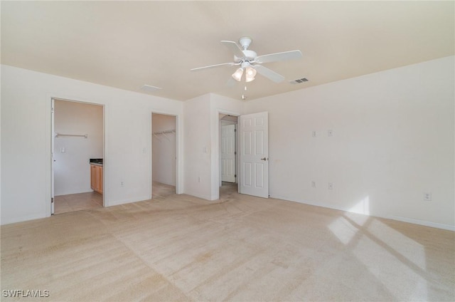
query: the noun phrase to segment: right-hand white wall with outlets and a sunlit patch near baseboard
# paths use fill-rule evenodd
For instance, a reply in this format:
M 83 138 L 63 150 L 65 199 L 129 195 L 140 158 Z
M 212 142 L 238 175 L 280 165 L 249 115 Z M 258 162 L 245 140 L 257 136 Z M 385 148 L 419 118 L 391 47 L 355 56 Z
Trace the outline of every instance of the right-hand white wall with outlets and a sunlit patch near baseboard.
M 454 229 L 453 56 L 251 100 L 245 110 L 269 112 L 272 197 Z

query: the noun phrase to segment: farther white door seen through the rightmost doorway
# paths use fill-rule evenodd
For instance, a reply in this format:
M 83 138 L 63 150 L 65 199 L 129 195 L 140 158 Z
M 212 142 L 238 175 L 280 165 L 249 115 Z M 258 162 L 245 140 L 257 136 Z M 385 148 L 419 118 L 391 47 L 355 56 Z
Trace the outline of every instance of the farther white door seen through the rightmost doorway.
M 221 126 L 221 180 L 235 182 L 235 125 Z

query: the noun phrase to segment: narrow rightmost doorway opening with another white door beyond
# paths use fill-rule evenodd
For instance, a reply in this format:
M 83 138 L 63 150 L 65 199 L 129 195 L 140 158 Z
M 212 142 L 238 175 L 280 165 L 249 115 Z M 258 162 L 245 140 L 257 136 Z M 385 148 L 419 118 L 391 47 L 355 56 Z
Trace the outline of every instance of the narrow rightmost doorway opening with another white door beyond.
M 238 192 L 237 116 L 219 113 L 220 199 Z

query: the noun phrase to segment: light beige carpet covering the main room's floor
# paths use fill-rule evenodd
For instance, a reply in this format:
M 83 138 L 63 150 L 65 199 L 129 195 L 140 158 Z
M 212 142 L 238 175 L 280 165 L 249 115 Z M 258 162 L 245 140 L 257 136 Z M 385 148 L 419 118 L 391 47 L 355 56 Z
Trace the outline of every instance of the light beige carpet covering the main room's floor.
M 49 291 L 26 301 L 455 300 L 454 232 L 233 189 L 3 226 L 1 289 Z

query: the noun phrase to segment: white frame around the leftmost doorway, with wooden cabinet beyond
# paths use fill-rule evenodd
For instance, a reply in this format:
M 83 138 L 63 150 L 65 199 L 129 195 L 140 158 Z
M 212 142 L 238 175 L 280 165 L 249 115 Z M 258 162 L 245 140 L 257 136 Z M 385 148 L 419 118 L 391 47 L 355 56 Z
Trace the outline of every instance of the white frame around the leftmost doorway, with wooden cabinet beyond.
M 66 102 L 73 102 L 73 103 L 83 103 L 88 105 L 97 105 L 102 106 L 102 152 L 103 152 L 103 163 L 108 162 L 107 158 L 107 117 L 106 117 L 106 106 L 102 103 L 96 103 L 92 100 L 81 100 L 77 97 L 72 97 L 68 95 L 58 95 L 53 93 L 46 94 L 46 128 L 48 129 L 48 135 L 46 136 L 46 155 L 47 155 L 47 163 L 46 163 L 46 172 L 45 172 L 45 179 L 46 179 L 46 190 L 45 190 L 45 216 L 50 217 L 53 214 L 53 189 L 54 189 L 54 177 L 53 177 L 53 136 L 54 136 L 54 113 L 53 113 L 53 103 L 54 100 L 63 100 Z M 107 166 L 109 169 L 109 166 Z M 106 167 L 103 165 L 103 194 L 102 194 L 102 206 L 106 207 L 106 195 L 107 189 L 105 184 L 107 183 L 107 173 Z

